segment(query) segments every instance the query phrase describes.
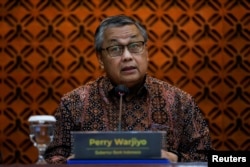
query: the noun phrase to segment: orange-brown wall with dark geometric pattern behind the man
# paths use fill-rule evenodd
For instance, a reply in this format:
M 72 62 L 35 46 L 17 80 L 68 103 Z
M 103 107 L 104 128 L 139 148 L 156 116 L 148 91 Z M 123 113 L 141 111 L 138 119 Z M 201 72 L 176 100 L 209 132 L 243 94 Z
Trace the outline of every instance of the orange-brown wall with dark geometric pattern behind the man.
M 27 119 L 101 75 L 94 31 L 127 14 L 149 33 L 149 73 L 193 95 L 218 150 L 250 150 L 249 0 L 0 0 L 0 150 L 33 163 Z

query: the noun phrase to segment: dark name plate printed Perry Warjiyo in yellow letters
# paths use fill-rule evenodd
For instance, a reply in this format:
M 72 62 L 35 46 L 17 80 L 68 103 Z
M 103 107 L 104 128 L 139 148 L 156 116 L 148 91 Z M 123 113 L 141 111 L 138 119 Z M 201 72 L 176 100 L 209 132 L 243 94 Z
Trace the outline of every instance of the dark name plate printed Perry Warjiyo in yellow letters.
M 160 158 L 165 132 L 71 132 L 75 159 Z

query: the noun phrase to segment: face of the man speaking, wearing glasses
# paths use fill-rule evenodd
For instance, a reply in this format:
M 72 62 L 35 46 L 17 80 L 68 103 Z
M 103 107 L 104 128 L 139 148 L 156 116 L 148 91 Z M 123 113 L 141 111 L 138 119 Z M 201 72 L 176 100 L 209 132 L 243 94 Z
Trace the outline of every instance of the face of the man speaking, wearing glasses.
M 133 49 L 132 43 L 139 41 L 144 42 L 144 39 L 135 25 L 112 27 L 104 32 L 102 48 L 131 44 L 130 47 Z M 121 55 L 116 57 L 111 57 L 106 50 L 103 50 L 102 54 L 98 55 L 98 59 L 112 82 L 117 85 L 126 85 L 128 88 L 140 84 L 147 72 L 148 51 L 146 45 L 138 53 L 131 53 L 128 47 L 125 47 Z

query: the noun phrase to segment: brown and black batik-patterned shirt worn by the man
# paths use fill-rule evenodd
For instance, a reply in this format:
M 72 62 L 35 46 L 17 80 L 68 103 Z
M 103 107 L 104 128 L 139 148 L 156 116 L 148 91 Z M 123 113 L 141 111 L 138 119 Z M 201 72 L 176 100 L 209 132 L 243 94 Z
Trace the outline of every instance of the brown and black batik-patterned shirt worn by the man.
M 119 100 L 106 76 L 65 94 L 55 113 L 55 136 L 45 152 L 46 160 L 66 162 L 71 154 L 70 131 L 116 131 Z M 122 106 L 123 131 L 164 130 L 165 150 L 177 151 L 181 161 L 207 161 L 211 149 L 208 125 L 186 92 L 146 75 L 137 94 L 124 98 Z M 65 159 L 51 162 L 54 155 Z

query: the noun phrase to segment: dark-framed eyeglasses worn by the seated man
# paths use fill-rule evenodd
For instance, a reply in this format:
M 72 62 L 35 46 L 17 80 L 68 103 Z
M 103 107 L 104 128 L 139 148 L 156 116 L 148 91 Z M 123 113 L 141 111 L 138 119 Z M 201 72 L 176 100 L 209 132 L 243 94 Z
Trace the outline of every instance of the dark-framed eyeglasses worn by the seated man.
M 106 50 L 108 55 L 110 57 L 119 57 L 123 54 L 125 47 L 128 48 L 128 51 L 130 53 L 141 53 L 144 50 L 145 42 L 138 41 L 138 42 L 132 42 L 128 45 L 114 45 L 109 46 L 107 48 L 102 48 L 102 50 Z

